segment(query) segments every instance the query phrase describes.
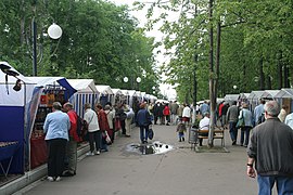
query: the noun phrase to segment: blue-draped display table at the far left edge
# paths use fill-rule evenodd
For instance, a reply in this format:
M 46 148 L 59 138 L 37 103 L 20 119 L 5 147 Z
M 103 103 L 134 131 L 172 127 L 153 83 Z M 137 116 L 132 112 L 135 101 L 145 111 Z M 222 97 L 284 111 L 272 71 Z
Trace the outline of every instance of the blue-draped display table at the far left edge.
M 18 146 L 18 142 L 0 142 L 0 167 L 5 178 L 8 177 L 13 156 L 16 153 Z M 2 165 L 3 160 L 9 160 L 5 169 Z

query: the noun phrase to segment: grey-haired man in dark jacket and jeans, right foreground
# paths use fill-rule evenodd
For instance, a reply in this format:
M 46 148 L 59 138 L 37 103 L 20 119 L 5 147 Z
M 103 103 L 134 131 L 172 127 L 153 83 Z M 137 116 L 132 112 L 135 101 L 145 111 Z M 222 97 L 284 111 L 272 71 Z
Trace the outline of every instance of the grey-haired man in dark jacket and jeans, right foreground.
M 293 131 L 279 120 L 276 101 L 264 108 L 266 121 L 254 128 L 247 147 L 247 176 L 255 178 L 257 170 L 259 195 L 271 194 L 275 183 L 278 194 L 293 194 Z

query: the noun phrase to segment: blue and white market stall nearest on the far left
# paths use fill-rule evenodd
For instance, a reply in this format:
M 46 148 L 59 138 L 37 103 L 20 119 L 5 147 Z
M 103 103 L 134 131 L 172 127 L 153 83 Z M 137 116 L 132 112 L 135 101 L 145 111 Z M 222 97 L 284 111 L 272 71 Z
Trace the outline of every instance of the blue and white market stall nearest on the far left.
M 35 83 L 0 62 L 0 174 L 25 172 L 25 110 Z

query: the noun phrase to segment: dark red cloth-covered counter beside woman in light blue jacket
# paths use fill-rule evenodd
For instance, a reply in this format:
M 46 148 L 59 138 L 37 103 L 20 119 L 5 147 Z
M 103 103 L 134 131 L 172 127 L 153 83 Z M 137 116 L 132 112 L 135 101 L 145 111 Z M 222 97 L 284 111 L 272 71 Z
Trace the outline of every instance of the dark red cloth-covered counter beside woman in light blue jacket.
M 30 168 L 34 169 L 47 162 L 47 144 L 44 136 L 30 139 Z

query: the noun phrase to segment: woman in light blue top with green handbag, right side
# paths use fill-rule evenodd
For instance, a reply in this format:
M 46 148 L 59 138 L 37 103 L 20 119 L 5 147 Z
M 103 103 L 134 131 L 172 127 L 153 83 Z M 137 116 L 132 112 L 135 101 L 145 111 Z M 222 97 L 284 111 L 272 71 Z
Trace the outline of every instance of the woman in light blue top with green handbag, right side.
M 239 122 L 243 121 L 240 125 L 241 128 L 241 138 L 240 138 L 240 145 L 247 147 L 249 140 L 250 140 L 250 132 L 253 127 L 253 115 L 252 112 L 249 109 L 249 104 L 243 103 L 242 109 L 239 114 Z M 245 138 L 245 141 L 244 141 Z

